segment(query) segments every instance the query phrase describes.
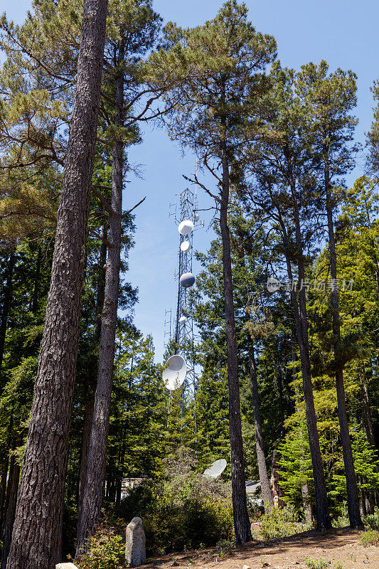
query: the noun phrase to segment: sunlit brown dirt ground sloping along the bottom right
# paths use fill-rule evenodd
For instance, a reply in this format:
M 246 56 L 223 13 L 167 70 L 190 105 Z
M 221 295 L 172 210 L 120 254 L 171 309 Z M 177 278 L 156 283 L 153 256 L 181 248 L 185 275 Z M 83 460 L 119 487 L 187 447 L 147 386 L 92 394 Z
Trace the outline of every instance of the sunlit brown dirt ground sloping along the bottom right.
M 154 559 L 147 569 L 307 569 L 306 558 L 324 560 L 330 569 L 341 563 L 343 569 L 379 569 L 379 548 L 363 547 L 360 531 L 350 528 L 333 529 L 325 533 L 307 531 L 296 536 L 271 541 L 252 541 L 235 548 L 220 558 L 218 551 L 204 549 L 166 555 Z M 246 568 L 245 568 L 246 569 Z

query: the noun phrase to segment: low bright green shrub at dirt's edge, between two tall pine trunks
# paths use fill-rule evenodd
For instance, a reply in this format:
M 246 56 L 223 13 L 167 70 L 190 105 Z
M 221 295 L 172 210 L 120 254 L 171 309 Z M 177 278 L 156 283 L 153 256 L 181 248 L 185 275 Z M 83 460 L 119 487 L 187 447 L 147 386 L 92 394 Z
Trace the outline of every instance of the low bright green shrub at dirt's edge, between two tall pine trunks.
M 269 514 L 260 517 L 261 533 L 265 539 L 284 538 L 294 533 L 313 528 L 313 523 L 299 522 L 297 511 L 293 506 L 272 508 Z

